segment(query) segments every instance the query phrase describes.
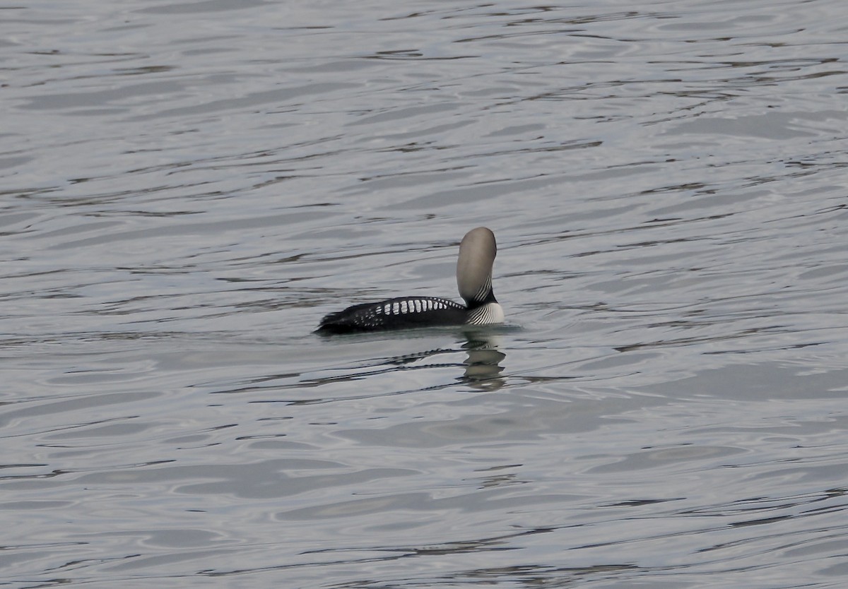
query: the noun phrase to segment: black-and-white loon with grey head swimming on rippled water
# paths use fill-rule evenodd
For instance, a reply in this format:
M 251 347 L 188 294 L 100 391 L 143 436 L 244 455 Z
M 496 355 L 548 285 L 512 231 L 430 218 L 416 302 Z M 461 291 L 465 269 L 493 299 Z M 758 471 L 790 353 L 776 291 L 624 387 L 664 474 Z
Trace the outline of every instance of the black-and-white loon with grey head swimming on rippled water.
M 492 264 L 497 253 L 494 233 L 487 227 L 472 229 L 462 238 L 456 261 L 456 286 L 465 305 L 441 297 L 389 298 L 328 314 L 321 320 L 318 333 L 503 323 L 504 309 L 492 292 Z

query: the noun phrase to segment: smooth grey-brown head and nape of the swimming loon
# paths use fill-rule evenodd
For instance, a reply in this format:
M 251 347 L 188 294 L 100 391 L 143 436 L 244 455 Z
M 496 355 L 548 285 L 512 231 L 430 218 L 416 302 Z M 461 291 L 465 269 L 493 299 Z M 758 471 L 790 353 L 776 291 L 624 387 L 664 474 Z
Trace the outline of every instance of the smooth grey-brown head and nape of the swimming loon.
M 488 227 L 472 229 L 462 238 L 456 261 L 456 286 L 469 308 L 496 302 L 492 292 L 492 265 L 497 254 L 498 245 Z

